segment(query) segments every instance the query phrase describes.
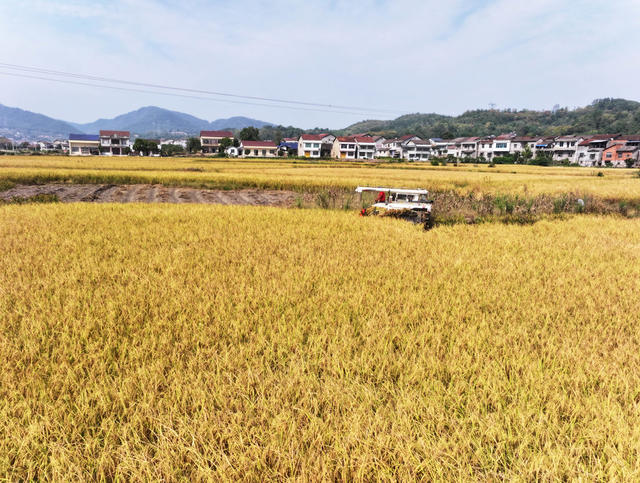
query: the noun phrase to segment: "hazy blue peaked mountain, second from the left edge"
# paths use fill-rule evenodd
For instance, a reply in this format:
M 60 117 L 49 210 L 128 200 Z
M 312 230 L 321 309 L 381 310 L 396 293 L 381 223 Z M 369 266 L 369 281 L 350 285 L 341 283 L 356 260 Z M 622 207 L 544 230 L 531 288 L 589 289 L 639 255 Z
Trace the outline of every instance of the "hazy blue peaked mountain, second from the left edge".
M 160 107 L 142 107 L 113 119 L 98 119 L 87 124 L 74 124 L 85 133 L 97 133 L 101 129 L 131 131 L 140 136 L 198 134 L 202 130 L 242 129 L 248 126 L 261 128 L 270 123 L 248 117 L 231 117 L 209 122 L 190 114 L 170 111 Z

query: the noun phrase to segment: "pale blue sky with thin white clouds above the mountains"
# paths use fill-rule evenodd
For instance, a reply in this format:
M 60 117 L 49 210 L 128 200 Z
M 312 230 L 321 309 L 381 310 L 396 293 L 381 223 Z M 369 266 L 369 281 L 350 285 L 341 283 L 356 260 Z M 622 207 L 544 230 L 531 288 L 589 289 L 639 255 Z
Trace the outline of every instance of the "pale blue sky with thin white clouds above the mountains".
M 350 108 L 104 89 L 0 67 L 1 104 L 80 123 L 156 105 L 337 129 L 490 104 L 640 100 L 638 0 L 1 0 L 0 40 L 4 64 Z

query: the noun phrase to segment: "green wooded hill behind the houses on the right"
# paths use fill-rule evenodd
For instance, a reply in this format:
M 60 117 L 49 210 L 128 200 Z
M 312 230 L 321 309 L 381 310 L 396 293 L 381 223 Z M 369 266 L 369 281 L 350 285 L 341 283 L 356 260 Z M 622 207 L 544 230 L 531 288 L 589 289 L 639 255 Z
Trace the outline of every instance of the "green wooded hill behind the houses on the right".
M 640 134 L 640 103 L 626 99 L 598 99 L 578 109 L 553 111 L 474 110 L 460 116 L 408 114 L 391 121 L 362 121 L 340 134 L 384 136 L 416 134 L 424 138 L 455 138 L 516 132 L 520 135 Z

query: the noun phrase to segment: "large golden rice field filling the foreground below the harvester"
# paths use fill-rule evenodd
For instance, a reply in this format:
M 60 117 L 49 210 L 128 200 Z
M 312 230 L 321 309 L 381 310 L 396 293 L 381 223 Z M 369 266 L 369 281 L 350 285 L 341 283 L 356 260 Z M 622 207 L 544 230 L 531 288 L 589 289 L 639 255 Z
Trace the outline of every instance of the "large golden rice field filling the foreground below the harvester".
M 2 479 L 640 477 L 638 220 L 32 204 L 0 240 Z

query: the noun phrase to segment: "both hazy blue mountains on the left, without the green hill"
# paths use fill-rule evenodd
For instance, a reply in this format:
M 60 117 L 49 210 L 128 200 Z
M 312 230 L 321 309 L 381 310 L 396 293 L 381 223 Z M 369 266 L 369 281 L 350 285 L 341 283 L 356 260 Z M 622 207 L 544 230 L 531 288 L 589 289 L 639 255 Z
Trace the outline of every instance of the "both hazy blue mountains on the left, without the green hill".
M 97 134 L 101 129 L 131 131 L 139 136 L 188 136 L 202 130 L 235 130 L 249 126 L 262 128 L 269 125 L 271 123 L 241 116 L 210 122 L 155 106 L 142 107 L 113 119 L 80 124 L 0 104 L 0 135 L 16 140 L 66 139 L 70 133 Z

